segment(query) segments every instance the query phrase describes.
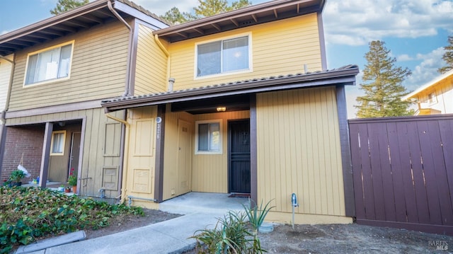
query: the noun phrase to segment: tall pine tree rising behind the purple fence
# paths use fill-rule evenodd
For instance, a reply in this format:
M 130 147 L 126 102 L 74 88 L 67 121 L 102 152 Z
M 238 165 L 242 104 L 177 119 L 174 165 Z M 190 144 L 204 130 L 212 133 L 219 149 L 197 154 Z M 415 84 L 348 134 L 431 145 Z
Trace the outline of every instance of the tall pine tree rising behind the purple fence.
M 391 117 L 412 115 L 408 111 L 411 102 L 401 100 L 407 94 L 406 88 L 401 85 L 411 71 L 406 68 L 395 67 L 395 58 L 389 57 L 383 41 L 369 43 L 369 52 L 365 54 L 367 64 L 363 70 L 360 90 L 365 96 L 357 97 L 357 117 Z M 368 82 L 368 83 L 367 83 Z

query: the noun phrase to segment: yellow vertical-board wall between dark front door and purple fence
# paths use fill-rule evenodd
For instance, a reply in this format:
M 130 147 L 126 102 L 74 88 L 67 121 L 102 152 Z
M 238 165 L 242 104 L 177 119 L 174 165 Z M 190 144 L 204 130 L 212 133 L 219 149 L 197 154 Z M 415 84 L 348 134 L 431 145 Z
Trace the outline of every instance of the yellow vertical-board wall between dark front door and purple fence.
M 257 95 L 258 200 L 273 212 L 345 215 L 336 89 Z M 287 215 L 290 220 L 290 214 Z

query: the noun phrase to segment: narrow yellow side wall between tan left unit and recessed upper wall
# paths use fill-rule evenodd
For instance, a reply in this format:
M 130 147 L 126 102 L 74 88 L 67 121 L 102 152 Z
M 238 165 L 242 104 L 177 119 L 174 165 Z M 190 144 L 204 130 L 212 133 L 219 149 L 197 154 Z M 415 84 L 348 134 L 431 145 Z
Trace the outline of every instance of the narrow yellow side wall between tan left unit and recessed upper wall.
M 139 25 L 135 95 L 166 91 L 167 57 L 154 41 L 151 28 Z

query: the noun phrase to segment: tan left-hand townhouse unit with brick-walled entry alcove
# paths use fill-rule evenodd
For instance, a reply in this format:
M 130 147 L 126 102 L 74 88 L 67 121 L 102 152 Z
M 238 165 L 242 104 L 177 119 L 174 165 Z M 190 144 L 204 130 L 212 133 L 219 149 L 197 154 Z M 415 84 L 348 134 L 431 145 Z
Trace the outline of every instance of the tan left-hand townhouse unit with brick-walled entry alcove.
M 115 201 L 125 128 L 101 100 L 148 92 L 131 70 L 160 63 L 136 62 L 135 39 L 166 27 L 130 1 L 97 0 L 0 35 L 1 180 L 21 163 L 24 183 L 58 186 L 75 173 L 79 195 Z

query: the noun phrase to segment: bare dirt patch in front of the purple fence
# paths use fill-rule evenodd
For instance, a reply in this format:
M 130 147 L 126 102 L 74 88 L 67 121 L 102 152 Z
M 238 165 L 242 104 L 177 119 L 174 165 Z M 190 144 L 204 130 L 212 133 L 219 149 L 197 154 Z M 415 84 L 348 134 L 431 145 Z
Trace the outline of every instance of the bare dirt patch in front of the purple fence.
M 357 224 L 274 225 L 260 233 L 268 253 L 452 253 L 453 237 Z M 437 249 L 440 246 L 440 249 Z M 195 254 L 190 250 L 185 254 Z

